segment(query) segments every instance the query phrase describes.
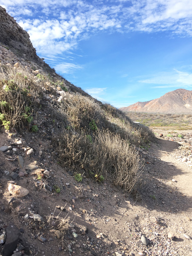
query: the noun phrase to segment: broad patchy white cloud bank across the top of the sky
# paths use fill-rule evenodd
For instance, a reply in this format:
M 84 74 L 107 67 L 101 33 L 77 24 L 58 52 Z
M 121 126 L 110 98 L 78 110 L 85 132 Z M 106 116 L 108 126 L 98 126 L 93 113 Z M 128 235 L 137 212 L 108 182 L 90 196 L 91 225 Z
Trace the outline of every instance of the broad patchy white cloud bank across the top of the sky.
M 100 31 L 192 36 L 191 0 L 0 0 L 38 52 L 58 55 Z M 33 15 L 32 15 L 33 14 Z

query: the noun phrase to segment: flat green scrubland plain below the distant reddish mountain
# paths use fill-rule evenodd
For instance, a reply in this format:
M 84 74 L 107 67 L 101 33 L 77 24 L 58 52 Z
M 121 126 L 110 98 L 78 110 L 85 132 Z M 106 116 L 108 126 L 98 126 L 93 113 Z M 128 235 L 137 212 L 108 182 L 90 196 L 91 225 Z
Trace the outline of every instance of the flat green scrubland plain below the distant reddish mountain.
M 176 130 L 191 130 L 191 114 L 151 114 L 144 112 L 127 112 L 126 115 L 135 122 L 148 127 L 173 127 Z

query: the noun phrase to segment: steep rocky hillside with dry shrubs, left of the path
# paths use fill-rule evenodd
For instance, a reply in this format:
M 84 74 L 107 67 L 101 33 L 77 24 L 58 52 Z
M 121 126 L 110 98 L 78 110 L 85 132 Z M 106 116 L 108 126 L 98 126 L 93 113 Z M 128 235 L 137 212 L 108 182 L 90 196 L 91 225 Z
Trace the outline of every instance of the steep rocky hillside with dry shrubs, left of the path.
M 137 197 L 154 134 L 56 74 L 1 7 L 0 34 L 0 254 L 121 255 L 103 210 Z

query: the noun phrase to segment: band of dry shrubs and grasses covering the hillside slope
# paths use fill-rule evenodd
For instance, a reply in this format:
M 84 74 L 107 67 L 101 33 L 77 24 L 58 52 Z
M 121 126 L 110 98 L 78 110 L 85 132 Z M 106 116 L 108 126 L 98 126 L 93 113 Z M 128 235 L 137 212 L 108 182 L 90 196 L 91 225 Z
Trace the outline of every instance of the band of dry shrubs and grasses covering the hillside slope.
M 58 86 L 65 98 L 58 100 Z M 136 147 L 155 137 L 143 125 L 135 124 L 110 104 L 100 103 L 81 89 L 67 89 L 64 79 L 47 73 L 36 76 L 2 66 L 0 70 L 0 124 L 6 130 L 19 129 L 40 136 L 38 115 L 49 109 L 57 161 L 70 165 L 75 173 L 95 181 L 111 179 L 128 192 L 136 188 L 143 162 Z M 59 124 L 59 125 L 56 125 Z M 80 175 L 78 177 L 80 177 Z

